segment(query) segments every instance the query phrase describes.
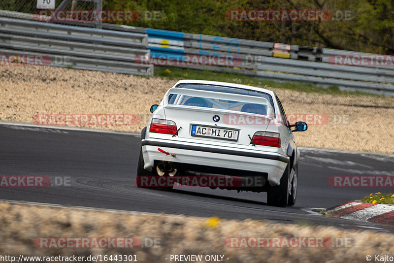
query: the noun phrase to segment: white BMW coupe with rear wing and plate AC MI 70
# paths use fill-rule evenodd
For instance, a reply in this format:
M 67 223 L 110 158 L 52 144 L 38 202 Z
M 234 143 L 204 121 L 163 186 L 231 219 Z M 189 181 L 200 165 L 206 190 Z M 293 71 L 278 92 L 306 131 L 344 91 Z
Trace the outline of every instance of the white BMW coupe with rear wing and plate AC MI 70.
M 141 132 L 138 187 L 218 187 L 267 192 L 269 205 L 295 203 L 299 150 L 293 132 L 307 124 L 290 125 L 273 91 L 181 80 L 150 110 Z

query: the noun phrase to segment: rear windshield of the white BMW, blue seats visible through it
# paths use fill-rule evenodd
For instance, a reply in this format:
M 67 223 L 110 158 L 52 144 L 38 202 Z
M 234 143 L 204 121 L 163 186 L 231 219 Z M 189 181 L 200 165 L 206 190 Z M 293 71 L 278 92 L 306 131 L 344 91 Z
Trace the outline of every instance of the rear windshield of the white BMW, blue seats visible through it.
M 272 97 L 269 94 L 263 92 L 250 91 L 250 90 L 227 87 L 227 86 L 215 86 L 215 85 L 195 84 L 195 83 L 193 84 L 182 83 L 179 84 L 177 88 L 226 92 L 231 94 L 262 97 L 267 99 L 268 102 L 271 103 L 271 107 L 273 108 Z M 226 100 L 226 99 L 212 99 L 206 97 L 192 97 L 192 96 L 179 95 L 179 94 L 170 94 L 168 97 L 168 104 L 226 109 L 226 110 L 267 115 L 266 104 L 248 103 L 248 102 Z

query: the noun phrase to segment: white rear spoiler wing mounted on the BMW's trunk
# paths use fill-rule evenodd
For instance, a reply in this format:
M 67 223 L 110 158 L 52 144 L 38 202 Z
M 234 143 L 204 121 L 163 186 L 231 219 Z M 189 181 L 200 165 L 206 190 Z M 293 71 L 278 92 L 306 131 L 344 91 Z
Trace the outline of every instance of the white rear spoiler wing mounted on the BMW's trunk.
M 179 94 L 179 95 L 184 95 L 184 96 L 201 97 L 201 98 L 209 98 L 209 99 L 226 99 L 226 100 L 235 100 L 235 101 L 246 102 L 246 103 L 263 104 L 267 107 L 266 116 L 274 116 L 274 110 L 272 108 L 271 103 L 269 103 L 269 101 L 263 97 L 233 94 L 233 93 L 226 93 L 226 92 L 216 92 L 216 91 L 171 88 L 164 95 L 164 99 L 163 99 L 163 106 L 164 107 L 177 106 L 176 101 L 175 101 L 175 104 L 168 104 L 168 96 L 170 94 Z M 185 106 L 182 106 L 182 107 L 185 107 Z M 186 106 L 186 107 L 193 107 L 193 106 Z

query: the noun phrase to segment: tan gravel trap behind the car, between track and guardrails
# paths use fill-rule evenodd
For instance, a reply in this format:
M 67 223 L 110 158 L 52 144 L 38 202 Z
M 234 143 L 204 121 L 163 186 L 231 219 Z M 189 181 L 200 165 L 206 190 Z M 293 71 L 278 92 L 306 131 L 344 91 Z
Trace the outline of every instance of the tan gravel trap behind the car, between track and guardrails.
M 137 114 L 138 125 L 91 127 L 140 132 L 150 105 L 159 103 L 175 82 L 58 67 L 2 66 L 0 120 L 33 122 L 36 114 Z M 298 145 L 393 154 L 392 97 L 273 90 L 287 114 L 329 117 L 328 123 L 309 122 L 308 131 L 296 132 Z

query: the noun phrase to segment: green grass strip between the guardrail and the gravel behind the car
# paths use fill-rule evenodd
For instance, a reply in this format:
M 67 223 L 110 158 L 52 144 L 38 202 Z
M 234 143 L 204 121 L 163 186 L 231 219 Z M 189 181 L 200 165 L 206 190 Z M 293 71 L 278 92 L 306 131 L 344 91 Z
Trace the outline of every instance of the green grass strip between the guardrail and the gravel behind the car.
M 240 69 L 241 70 L 241 69 Z M 305 82 L 278 82 L 258 77 L 246 76 L 242 74 L 234 74 L 228 72 L 212 72 L 209 70 L 197 70 L 190 68 L 179 68 L 179 67 L 166 67 L 166 66 L 155 66 L 155 76 L 168 78 L 168 79 L 202 79 L 202 80 L 213 80 L 230 83 L 238 83 L 243 85 L 251 85 L 262 88 L 278 88 L 294 90 L 299 92 L 307 93 L 318 93 L 318 94 L 329 94 L 329 95 L 360 95 L 360 96 L 371 96 L 381 97 L 380 95 L 374 95 L 363 92 L 347 92 L 341 91 L 337 86 L 330 86 L 328 88 L 318 87 L 311 83 Z

